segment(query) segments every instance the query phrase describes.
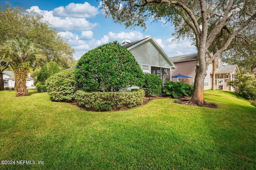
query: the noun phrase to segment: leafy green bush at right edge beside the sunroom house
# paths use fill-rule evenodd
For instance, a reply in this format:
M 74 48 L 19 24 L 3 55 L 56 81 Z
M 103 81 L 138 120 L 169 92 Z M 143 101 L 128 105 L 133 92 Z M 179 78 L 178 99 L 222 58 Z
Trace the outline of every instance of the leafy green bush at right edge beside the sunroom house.
M 256 100 L 256 78 L 252 74 L 237 74 L 237 80 L 228 82 L 237 96 L 249 100 Z

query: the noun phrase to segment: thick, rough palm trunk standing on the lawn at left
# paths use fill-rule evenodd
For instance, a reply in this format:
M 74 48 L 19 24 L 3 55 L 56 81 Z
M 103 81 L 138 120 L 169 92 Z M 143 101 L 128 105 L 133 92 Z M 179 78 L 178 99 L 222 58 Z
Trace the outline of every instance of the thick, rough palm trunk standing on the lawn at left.
M 28 77 L 28 68 L 26 66 L 20 65 L 13 68 L 15 85 L 16 85 L 16 97 L 19 96 L 28 96 L 28 90 L 26 86 L 26 79 Z

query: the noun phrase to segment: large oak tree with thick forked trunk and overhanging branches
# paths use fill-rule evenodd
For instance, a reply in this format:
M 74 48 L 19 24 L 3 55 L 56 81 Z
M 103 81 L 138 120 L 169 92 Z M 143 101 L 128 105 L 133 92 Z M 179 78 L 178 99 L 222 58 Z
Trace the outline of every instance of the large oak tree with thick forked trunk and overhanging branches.
M 239 33 L 255 24 L 255 0 L 102 0 L 106 16 L 126 27 L 146 28 L 149 18 L 164 18 L 174 24 L 178 39 L 195 40 L 198 50 L 194 94 L 190 103 L 202 106 L 204 102 L 204 78 L 206 68 L 216 56 L 225 51 Z M 157 31 L 157 30 L 156 30 Z M 218 34 L 225 42 L 214 55 L 209 47 Z

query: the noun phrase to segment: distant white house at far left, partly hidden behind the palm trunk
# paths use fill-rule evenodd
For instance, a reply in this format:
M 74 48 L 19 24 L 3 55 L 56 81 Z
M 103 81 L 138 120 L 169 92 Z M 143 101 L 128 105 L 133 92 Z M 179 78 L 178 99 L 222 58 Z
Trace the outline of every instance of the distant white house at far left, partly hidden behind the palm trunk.
M 5 87 L 14 87 L 14 72 L 13 71 L 3 71 L 3 79 Z M 34 78 L 30 77 L 30 73 L 28 73 L 26 86 L 34 86 Z

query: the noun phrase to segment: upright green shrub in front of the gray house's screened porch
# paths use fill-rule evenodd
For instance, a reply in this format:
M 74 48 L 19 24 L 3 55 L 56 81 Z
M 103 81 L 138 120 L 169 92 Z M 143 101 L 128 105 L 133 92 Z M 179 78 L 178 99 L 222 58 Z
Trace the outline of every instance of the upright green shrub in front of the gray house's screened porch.
M 161 88 L 163 85 L 163 82 L 161 78 L 155 74 L 145 74 L 144 75 L 145 80 L 145 88 L 146 88 L 146 96 L 149 96 L 151 94 L 159 95 L 161 94 Z

